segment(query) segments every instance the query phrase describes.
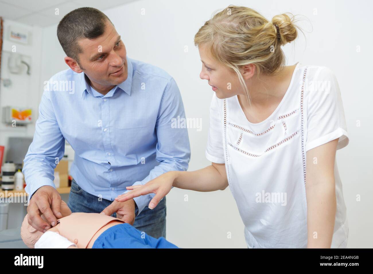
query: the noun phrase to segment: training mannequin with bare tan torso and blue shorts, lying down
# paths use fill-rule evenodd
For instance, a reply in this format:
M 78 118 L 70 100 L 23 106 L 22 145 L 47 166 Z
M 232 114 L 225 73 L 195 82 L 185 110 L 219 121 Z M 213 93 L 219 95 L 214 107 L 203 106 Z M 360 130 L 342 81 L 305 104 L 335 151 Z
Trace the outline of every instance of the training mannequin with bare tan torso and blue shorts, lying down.
M 48 229 L 45 235 L 28 224 L 26 214 L 21 226 L 25 245 L 29 248 L 35 248 L 35 244 L 40 248 L 177 248 L 164 237 L 148 236 L 119 218 L 99 213 L 72 213 L 64 201 L 61 201 L 61 214 L 63 217 L 57 219 L 56 226 Z M 44 215 L 41 218 L 46 220 Z M 58 239 L 46 239 L 47 235 Z M 64 244 L 59 245 L 61 239 Z M 70 246 L 69 242 L 75 245 Z

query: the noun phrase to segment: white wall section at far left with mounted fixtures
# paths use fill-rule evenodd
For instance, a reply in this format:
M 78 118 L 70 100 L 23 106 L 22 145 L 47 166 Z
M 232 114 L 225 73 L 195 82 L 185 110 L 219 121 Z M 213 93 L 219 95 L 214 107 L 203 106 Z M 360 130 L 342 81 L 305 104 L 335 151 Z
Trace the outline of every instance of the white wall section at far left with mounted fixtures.
M 23 45 L 7 39 L 9 26 L 16 26 L 25 29 L 30 34 L 29 44 Z M 0 82 L 0 145 L 7 149 L 10 136 L 25 137 L 34 135 L 37 111 L 40 103 L 39 79 L 41 67 L 41 41 L 42 28 L 28 26 L 11 20 L 4 20 L 3 48 L 1 56 L 1 82 Z M 15 48 L 15 52 L 12 51 Z M 21 59 L 30 65 L 30 75 L 26 74 L 26 66 L 22 66 L 21 74 L 12 74 L 8 70 L 8 58 L 11 54 L 20 54 Z M 3 79 L 10 79 L 12 85 L 5 87 Z M 19 108 L 31 108 L 33 122 L 27 126 L 15 127 L 2 123 L 2 108 L 4 106 L 15 106 Z M 5 159 L 4 155 L 4 159 Z M 4 162 L 4 160 L 3 160 Z

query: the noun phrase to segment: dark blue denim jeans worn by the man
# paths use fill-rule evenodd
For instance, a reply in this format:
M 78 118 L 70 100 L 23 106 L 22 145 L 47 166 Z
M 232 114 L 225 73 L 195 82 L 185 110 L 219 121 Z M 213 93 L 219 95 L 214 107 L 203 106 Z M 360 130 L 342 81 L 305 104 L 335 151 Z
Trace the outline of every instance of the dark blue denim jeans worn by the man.
M 71 212 L 100 213 L 111 203 L 112 201 L 106 199 L 98 201 L 97 196 L 85 192 L 75 180 L 72 180 L 68 201 L 68 207 Z M 137 212 L 138 209 L 136 207 L 136 215 Z M 112 217 L 116 218 L 115 212 Z M 145 206 L 135 218 L 134 227 L 156 239 L 166 237 L 166 197 L 153 210 Z

